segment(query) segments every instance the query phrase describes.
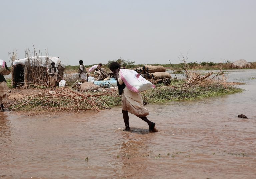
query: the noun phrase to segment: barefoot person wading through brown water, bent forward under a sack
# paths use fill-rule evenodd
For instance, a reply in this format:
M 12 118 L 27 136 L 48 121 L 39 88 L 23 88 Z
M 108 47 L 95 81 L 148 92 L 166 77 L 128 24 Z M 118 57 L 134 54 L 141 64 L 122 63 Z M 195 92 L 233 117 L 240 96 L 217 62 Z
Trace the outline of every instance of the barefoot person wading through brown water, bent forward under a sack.
M 129 115 L 128 112 L 131 114 L 136 115 L 140 119 L 147 122 L 149 126 L 150 132 L 158 132 L 155 128 L 155 123 L 148 120 L 146 117 L 148 115 L 148 110 L 143 107 L 143 100 L 140 93 L 132 92 L 131 90 L 128 90 L 126 88 L 124 82 L 120 78 L 120 64 L 117 62 L 112 62 L 109 66 L 109 69 L 116 74 L 116 82 L 118 87 L 118 93 L 121 95 L 123 93 L 122 97 L 122 113 L 124 117 L 124 124 L 125 124 L 125 131 L 130 130 L 129 126 Z

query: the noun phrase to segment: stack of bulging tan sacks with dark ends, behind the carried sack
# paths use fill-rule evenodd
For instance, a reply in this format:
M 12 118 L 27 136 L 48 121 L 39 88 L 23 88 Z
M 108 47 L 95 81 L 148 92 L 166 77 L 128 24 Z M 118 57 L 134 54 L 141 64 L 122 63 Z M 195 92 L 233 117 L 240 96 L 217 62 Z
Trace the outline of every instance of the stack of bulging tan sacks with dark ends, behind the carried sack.
M 135 69 L 136 72 L 142 74 L 144 78 L 154 84 L 170 82 L 171 74 L 166 72 L 166 69 L 161 65 L 144 65 L 143 67 Z

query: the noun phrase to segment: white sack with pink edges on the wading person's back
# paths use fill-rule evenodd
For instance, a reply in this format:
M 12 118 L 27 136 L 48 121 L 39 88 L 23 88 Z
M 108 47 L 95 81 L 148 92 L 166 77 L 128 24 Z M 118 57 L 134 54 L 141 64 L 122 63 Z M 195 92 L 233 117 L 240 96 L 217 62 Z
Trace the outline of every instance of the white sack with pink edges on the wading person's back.
M 120 77 L 126 87 L 133 92 L 142 92 L 155 87 L 151 82 L 143 78 L 134 70 L 120 69 Z

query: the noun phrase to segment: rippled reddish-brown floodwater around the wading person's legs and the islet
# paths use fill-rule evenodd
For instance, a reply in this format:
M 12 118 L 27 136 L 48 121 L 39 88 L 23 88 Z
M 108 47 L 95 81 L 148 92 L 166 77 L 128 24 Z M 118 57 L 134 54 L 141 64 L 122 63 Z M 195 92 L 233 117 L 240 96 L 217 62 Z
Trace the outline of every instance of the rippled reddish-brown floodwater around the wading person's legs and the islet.
M 256 70 L 228 73 L 229 82 L 246 83 L 244 93 L 146 105 L 157 133 L 131 114 L 132 131 L 122 131 L 121 107 L 1 112 L 0 177 L 256 178 Z

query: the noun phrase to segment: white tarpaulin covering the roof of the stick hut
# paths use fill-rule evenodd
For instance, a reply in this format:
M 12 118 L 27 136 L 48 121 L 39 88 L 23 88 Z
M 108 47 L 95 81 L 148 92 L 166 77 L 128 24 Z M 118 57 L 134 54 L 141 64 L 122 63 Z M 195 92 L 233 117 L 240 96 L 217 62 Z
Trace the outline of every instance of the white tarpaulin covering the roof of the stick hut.
M 62 67 L 65 67 L 65 65 L 60 61 L 59 58 L 57 57 L 47 57 L 46 56 L 32 56 L 29 58 L 25 58 L 25 59 L 19 59 L 19 60 L 14 60 L 12 62 L 13 65 L 25 65 L 26 61 L 29 59 L 30 65 L 31 66 L 43 66 L 43 67 L 49 67 L 51 66 L 51 63 L 54 62 L 55 63 L 55 67 L 58 67 L 58 65 L 60 64 Z

